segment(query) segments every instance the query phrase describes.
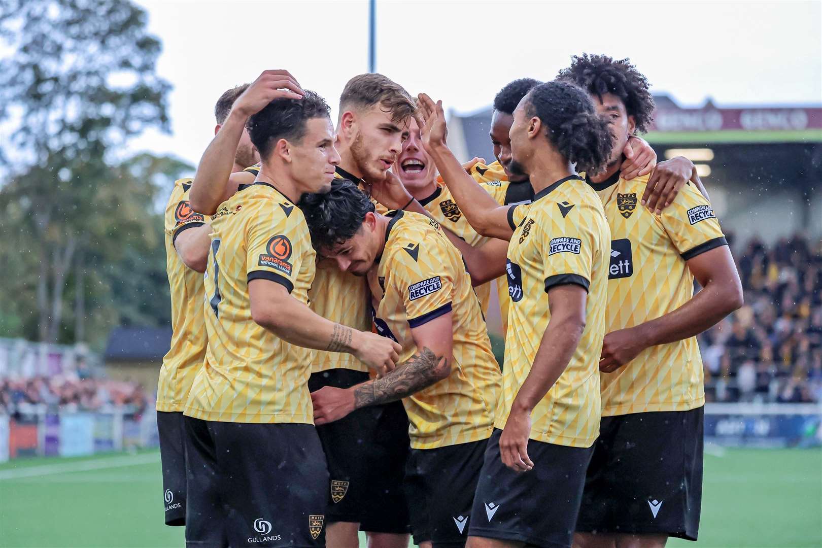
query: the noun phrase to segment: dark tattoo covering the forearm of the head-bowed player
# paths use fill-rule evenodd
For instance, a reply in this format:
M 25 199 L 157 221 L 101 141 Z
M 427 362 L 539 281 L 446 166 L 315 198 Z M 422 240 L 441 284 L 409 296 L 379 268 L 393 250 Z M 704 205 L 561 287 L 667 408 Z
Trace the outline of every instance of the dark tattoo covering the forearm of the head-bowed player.
M 354 407 L 393 402 L 419 392 L 436 382 L 439 366 L 447 367 L 448 358 L 423 348 L 381 379 L 370 380 L 354 389 Z

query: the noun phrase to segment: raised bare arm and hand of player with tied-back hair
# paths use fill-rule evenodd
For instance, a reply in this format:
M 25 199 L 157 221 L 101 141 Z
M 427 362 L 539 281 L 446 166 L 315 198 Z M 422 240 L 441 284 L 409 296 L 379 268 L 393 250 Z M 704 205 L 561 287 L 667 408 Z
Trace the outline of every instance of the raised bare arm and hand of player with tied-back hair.
M 427 94 L 419 95 L 417 123 L 423 146 L 431 154 L 442 180 L 454 196 L 465 219 L 483 236 L 510 240 L 514 231 L 508 223 L 510 206 L 499 205 L 494 198 L 465 173 L 459 160 L 446 145 L 446 116 L 442 103 L 436 104 Z

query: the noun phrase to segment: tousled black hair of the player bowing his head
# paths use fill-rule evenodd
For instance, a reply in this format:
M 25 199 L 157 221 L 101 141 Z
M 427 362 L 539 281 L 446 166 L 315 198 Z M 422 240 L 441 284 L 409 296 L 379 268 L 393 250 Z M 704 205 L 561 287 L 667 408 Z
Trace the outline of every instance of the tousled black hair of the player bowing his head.
M 325 194 L 306 194 L 299 202 L 316 251 L 334 249 L 350 240 L 374 204 L 348 179 L 334 179 Z

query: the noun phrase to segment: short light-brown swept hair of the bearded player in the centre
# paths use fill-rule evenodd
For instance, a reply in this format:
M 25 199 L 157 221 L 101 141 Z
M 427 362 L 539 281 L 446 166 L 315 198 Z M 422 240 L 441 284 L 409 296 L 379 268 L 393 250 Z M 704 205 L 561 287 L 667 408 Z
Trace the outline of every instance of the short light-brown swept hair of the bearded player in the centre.
M 339 111 L 349 107 L 368 108 L 379 104 L 391 113 L 394 122 L 401 122 L 417 109 L 417 103 L 403 86 L 381 74 L 368 73 L 354 76 L 339 96 Z

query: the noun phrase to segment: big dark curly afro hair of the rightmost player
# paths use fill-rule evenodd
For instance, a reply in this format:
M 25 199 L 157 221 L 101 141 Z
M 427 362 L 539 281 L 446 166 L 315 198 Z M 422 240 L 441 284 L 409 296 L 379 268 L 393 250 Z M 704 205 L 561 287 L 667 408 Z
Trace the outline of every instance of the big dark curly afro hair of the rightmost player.
M 628 115 L 634 117 L 636 131 L 648 131 L 653 122 L 654 105 L 648 80 L 628 58 L 614 61 L 607 55 L 575 55 L 570 67 L 562 69 L 556 79 L 579 85 L 600 101 L 603 94 L 617 95 Z

